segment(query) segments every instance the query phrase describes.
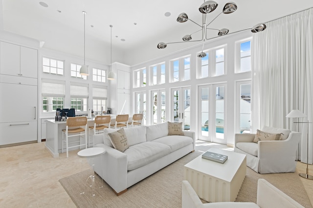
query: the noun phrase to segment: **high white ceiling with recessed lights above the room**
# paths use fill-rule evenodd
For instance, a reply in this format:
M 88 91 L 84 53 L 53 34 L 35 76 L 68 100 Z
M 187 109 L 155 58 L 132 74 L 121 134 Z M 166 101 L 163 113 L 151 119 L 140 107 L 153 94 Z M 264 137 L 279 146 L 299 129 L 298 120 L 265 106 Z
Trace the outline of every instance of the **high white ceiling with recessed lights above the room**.
M 45 2 L 48 7 L 40 5 Z M 214 19 L 228 0 L 216 0 L 218 8 L 208 15 Z M 86 11 L 86 58 L 110 63 L 110 24 L 112 28 L 113 62 L 129 65 L 138 60 L 129 54 L 161 56 L 186 47 L 185 43 L 160 50 L 158 42 L 181 41 L 184 35 L 199 29 L 191 21 L 178 23 L 178 15 L 185 12 L 201 24 L 199 6 L 203 0 L 0 0 L 2 17 L 0 29 L 44 41 L 43 48 L 83 57 L 84 15 Z M 230 32 L 250 28 L 313 7 L 313 0 L 235 0 L 238 9 L 232 14 L 221 14 L 209 27 L 228 28 Z M 170 12 L 170 17 L 165 13 Z M 136 23 L 136 24 L 134 24 Z M 91 27 L 91 25 L 93 27 Z M 216 31 L 209 31 L 212 36 Z M 201 38 L 201 33 L 198 33 Z M 193 36 L 193 39 L 197 38 Z M 117 36 L 117 37 L 115 37 Z M 125 41 L 121 41 L 121 39 Z M 190 43 L 187 43 L 190 44 Z M 138 49 L 138 50 L 136 50 Z M 140 50 L 139 50 L 140 49 Z M 144 50 L 143 50 L 144 49 Z M 109 58 L 108 58 L 109 57 Z M 145 61 L 145 60 L 140 60 Z

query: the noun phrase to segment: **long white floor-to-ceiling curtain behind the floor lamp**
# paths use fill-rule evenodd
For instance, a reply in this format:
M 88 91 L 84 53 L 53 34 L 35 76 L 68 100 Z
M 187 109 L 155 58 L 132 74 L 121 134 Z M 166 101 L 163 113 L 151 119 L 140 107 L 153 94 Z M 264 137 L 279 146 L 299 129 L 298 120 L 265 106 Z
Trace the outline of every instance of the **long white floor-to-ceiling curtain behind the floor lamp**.
M 264 125 L 296 129 L 286 118 L 293 109 L 313 121 L 313 8 L 266 23 L 252 41 L 252 132 Z M 307 162 L 307 124 L 300 124 L 301 162 Z M 309 164 L 313 163 L 309 124 Z

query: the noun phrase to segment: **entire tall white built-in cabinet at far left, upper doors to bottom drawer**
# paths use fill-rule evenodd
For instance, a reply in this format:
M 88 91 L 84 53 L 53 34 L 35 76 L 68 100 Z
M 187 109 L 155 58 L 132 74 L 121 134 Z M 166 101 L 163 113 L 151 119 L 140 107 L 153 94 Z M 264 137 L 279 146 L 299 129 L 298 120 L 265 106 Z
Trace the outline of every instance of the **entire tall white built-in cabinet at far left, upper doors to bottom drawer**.
M 38 50 L 0 41 L 0 146 L 38 141 Z

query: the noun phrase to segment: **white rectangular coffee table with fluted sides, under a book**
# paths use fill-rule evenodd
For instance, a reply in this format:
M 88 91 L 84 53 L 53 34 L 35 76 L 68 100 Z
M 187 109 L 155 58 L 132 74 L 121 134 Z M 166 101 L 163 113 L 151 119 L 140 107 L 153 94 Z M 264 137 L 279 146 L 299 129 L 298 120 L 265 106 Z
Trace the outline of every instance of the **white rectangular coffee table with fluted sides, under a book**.
M 227 155 L 228 159 L 221 164 L 200 155 L 184 166 L 184 180 L 205 201 L 234 202 L 246 176 L 246 155 L 216 148 L 208 151 Z

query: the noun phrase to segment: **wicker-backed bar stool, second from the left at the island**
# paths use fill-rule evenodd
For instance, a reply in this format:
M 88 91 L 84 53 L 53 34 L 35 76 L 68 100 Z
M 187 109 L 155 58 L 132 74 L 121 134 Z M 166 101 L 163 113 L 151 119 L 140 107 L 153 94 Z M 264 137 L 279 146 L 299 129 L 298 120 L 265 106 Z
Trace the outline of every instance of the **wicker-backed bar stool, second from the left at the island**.
M 105 128 L 110 128 L 111 125 L 111 115 L 98 115 L 94 119 L 93 126 L 89 126 L 89 142 L 88 147 L 90 147 L 90 140 L 93 140 L 93 135 L 97 133 L 103 133 Z M 90 134 L 92 132 L 92 134 Z M 93 143 L 92 143 L 93 146 Z

